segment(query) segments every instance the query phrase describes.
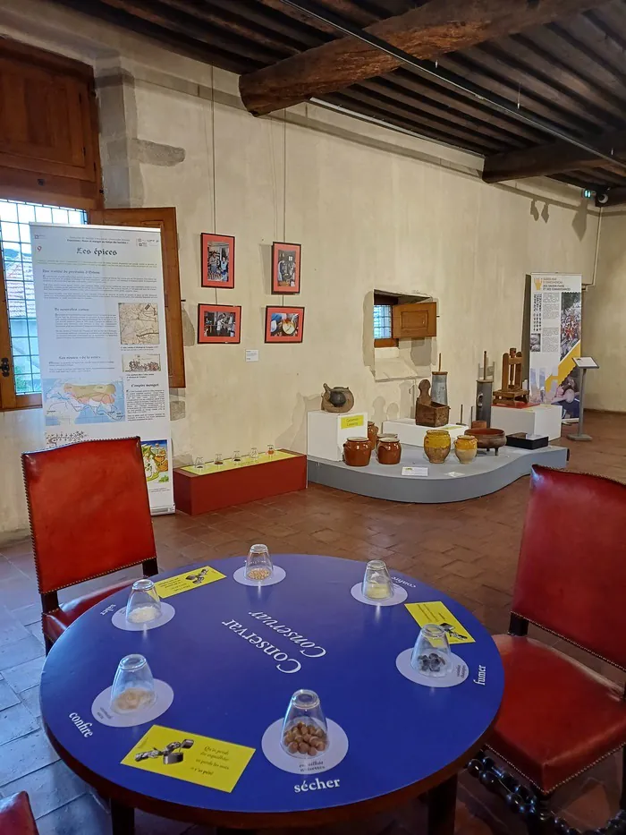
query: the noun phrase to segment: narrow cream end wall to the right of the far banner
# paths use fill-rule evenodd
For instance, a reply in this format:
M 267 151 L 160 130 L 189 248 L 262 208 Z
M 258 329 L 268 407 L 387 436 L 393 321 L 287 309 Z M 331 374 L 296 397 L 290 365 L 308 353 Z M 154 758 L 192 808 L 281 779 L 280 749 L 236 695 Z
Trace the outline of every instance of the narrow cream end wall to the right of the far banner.
M 583 308 L 583 353 L 600 368 L 587 372 L 588 408 L 626 412 L 624 346 L 626 346 L 626 211 L 604 211 L 598 249 L 596 283 L 589 287 Z

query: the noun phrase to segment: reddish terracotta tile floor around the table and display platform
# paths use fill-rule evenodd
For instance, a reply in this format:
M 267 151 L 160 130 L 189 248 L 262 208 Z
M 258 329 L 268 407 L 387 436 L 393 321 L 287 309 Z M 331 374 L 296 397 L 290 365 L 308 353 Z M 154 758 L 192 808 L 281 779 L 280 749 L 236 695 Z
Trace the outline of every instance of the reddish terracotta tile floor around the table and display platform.
M 626 481 L 626 415 L 591 414 L 588 431 L 593 443 L 562 441 L 571 447 L 571 468 Z M 221 513 L 156 518 L 158 558 L 162 567 L 173 568 L 243 554 L 253 541 L 264 541 L 275 552 L 385 558 L 390 566 L 449 592 L 489 629 L 501 632 L 508 626 L 528 489 L 528 480 L 522 479 L 492 496 L 428 506 L 377 501 L 312 485 Z M 76 593 L 74 588 L 69 596 Z M 39 611 L 30 542 L 0 545 L 0 795 L 26 789 L 41 835 L 104 835 L 109 832 L 106 811 L 59 761 L 40 726 L 38 678 L 44 649 Z M 567 648 L 554 636 L 542 637 Z M 614 677 L 603 662 L 586 660 Z M 611 758 L 563 789 L 554 805 L 580 829 L 599 826 L 617 809 L 620 780 L 621 764 Z M 423 824 L 420 810 L 415 805 L 393 819 L 368 821 L 354 831 L 418 833 Z M 138 814 L 137 830 L 138 835 L 206 832 L 147 814 Z M 345 827 L 334 829 L 340 831 Z M 460 835 L 523 831 L 501 801 L 467 775 L 461 777 Z

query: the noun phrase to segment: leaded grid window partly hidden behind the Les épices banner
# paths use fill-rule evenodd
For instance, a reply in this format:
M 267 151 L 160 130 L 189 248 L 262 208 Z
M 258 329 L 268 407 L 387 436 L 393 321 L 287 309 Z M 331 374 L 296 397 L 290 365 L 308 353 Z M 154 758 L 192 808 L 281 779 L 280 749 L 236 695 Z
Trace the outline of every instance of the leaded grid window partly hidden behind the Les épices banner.
M 0 199 L 0 251 L 16 395 L 41 392 L 29 223 L 87 223 L 87 212 Z

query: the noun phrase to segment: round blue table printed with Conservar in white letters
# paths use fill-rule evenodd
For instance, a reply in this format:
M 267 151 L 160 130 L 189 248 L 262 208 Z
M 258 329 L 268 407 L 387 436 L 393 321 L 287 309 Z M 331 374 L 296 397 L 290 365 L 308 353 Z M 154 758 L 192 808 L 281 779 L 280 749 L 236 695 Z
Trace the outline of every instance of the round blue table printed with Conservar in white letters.
M 456 774 L 494 723 L 503 694 L 500 656 L 485 627 L 442 592 L 392 572 L 408 592 L 406 602 L 443 601 L 475 639 L 453 645 L 469 667 L 461 685 L 420 686 L 395 666 L 419 633 L 410 611 L 351 596 L 364 563 L 276 554 L 286 577 L 265 587 L 236 583 L 242 564 L 243 558 L 211 561 L 225 578 L 168 598 L 173 619 L 149 631 L 113 625 L 114 610 L 128 599 L 118 592 L 72 624 L 47 657 L 41 680 L 47 734 L 73 771 L 112 798 L 116 835 L 132 831 L 132 812 L 124 810 L 133 808 L 225 828 L 314 826 L 425 793 L 429 831 L 452 831 Z M 155 724 L 255 749 L 232 791 L 122 764 L 151 723 L 106 727 L 91 705 L 131 652 L 145 655 L 154 676 L 173 687 L 173 703 Z M 349 739 L 343 762 L 318 775 L 324 790 L 315 775 L 304 780 L 315 788 L 303 789 L 300 775 L 277 768 L 261 749 L 266 728 L 299 688 L 320 695 L 326 716 Z M 76 717 L 91 722 L 90 734 Z

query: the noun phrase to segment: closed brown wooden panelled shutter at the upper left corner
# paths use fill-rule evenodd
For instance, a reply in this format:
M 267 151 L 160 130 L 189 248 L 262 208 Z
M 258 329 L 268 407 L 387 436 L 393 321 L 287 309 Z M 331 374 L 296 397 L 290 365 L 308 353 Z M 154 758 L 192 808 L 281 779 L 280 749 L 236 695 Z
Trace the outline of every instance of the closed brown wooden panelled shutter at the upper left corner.
M 91 67 L 0 38 L 0 183 L 13 200 L 101 205 Z

